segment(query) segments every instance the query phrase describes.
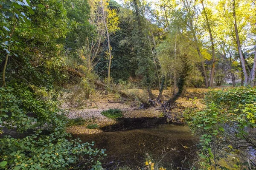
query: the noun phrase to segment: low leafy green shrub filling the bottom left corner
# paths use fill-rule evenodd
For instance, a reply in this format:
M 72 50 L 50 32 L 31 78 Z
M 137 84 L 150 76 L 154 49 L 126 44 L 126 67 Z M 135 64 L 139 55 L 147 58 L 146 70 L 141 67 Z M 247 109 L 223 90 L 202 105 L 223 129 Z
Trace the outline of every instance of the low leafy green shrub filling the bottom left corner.
M 106 156 L 105 150 L 92 148 L 93 142 L 81 144 L 79 139 L 67 140 L 68 133 L 55 132 L 48 136 L 39 133 L 23 139 L 10 136 L 0 139 L 0 160 L 7 162 L 4 170 L 99 169 L 99 161 Z

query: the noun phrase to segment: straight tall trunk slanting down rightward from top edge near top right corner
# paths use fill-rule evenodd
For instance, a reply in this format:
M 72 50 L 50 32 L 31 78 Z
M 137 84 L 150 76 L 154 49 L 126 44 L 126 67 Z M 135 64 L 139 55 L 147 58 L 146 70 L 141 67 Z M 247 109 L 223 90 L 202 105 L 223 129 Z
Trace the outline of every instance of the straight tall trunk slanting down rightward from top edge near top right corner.
M 243 73 L 244 73 L 244 83 L 247 83 L 248 75 L 247 75 L 247 71 L 246 71 L 244 56 L 243 56 L 243 53 L 242 53 L 242 50 L 241 50 L 241 44 L 240 44 L 239 34 L 238 34 L 238 29 L 237 29 L 237 24 L 236 24 L 236 4 L 235 4 L 235 0 L 233 0 L 233 17 L 234 17 L 234 21 L 235 21 L 234 22 L 234 27 L 235 27 L 235 32 L 236 32 L 236 44 L 237 44 L 237 47 L 238 47 L 240 61 L 241 61 L 241 65 L 242 65 L 242 69 L 243 69 Z

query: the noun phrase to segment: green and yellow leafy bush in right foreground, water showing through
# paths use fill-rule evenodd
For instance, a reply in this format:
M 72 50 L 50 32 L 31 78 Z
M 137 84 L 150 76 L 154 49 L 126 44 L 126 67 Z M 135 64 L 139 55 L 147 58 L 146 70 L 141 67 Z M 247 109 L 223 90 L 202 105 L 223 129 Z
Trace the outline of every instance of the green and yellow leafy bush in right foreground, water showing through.
M 203 111 L 192 110 L 186 116 L 193 132 L 201 136 L 204 166 L 221 167 L 218 160 L 234 155 L 238 159 L 233 160 L 233 168 L 253 166 L 242 160 L 250 157 L 250 148 L 256 149 L 256 88 L 210 91 L 205 102 Z

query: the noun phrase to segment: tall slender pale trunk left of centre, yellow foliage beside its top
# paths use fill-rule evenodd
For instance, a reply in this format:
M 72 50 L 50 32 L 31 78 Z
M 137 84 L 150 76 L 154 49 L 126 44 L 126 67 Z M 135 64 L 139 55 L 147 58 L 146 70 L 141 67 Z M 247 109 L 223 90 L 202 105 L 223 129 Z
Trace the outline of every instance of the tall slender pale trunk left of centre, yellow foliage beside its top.
M 108 38 L 108 53 L 109 53 L 109 62 L 108 62 L 108 87 L 110 87 L 110 68 L 111 68 L 111 59 L 112 59 L 112 54 L 111 54 L 111 46 L 110 46 L 110 38 L 109 38 L 109 34 L 108 34 L 108 26 L 107 26 L 107 18 L 105 16 L 105 10 L 104 10 L 104 6 L 103 6 L 103 2 L 101 0 L 101 6 L 102 6 L 102 17 L 103 17 L 103 23 L 105 25 L 106 28 L 106 32 L 107 32 L 107 38 Z M 108 89 L 106 89 L 105 94 L 108 94 Z

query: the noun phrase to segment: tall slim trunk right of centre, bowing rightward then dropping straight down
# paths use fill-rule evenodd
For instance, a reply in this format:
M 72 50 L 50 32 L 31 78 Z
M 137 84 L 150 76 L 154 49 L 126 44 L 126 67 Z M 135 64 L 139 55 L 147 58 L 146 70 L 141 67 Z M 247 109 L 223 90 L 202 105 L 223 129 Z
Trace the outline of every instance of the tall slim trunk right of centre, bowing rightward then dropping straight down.
M 211 40 L 211 44 L 212 44 L 212 70 L 211 70 L 211 74 L 210 74 L 210 82 L 209 82 L 209 86 L 213 87 L 213 79 L 214 79 L 214 70 L 215 70 L 215 48 L 214 48 L 214 42 L 213 42 L 213 37 L 212 37 L 212 31 L 209 25 L 209 20 L 208 20 L 208 16 L 207 13 L 205 11 L 204 8 L 204 0 L 201 0 L 202 6 L 203 6 L 203 10 L 205 13 L 205 20 L 206 20 L 206 24 L 207 24 L 207 28 L 210 34 L 210 40 Z

